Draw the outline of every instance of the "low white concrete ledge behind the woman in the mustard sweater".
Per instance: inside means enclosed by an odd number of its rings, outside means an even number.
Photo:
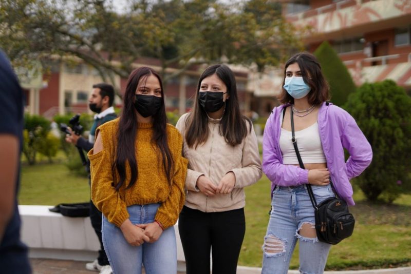
[[[93,261],[100,249],[99,240],[88,217],[70,218],[50,212],[53,206],[19,205],[22,240],[30,247],[30,258]],[[185,262],[178,233],[177,260]]]

